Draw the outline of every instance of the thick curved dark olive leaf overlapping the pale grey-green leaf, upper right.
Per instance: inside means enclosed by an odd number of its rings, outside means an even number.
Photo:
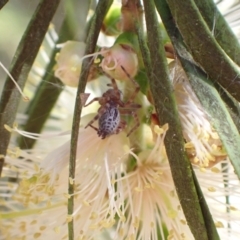
[[[194,1],[167,0],[167,3],[194,60],[201,65],[212,81],[219,82],[240,101],[239,68],[219,46]]]

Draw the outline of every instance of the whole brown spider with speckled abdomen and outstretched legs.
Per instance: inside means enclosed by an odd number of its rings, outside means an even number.
[[[126,127],[127,123],[121,119],[121,114],[132,115],[136,122],[131,130],[127,133],[127,136],[135,131],[140,125],[136,111],[137,109],[141,108],[141,105],[133,102],[140,90],[140,87],[137,82],[130,77],[130,75],[123,67],[122,69],[136,86],[135,91],[132,93],[132,96],[127,102],[124,103],[121,100],[121,91],[118,89],[116,80],[114,78],[111,78],[112,83],[107,84],[107,86],[112,88],[107,90],[102,95],[102,97],[96,97],[92,99],[87,105],[85,105],[86,107],[94,101],[99,102],[100,108],[98,109],[98,114],[86,125],[85,128],[88,126],[92,127],[97,131],[98,136],[102,137],[102,139],[111,134],[117,134]],[[98,128],[92,125],[96,120],[98,120]]]

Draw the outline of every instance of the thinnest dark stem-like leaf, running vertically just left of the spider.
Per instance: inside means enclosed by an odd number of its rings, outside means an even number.
[[[85,55],[92,54],[95,51],[98,35],[102,26],[104,16],[106,15],[111,4],[112,4],[112,0],[101,0],[98,2],[95,14],[91,20],[92,22],[91,22],[89,34],[86,41],[87,45],[86,45]],[[79,81],[77,95],[76,95],[72,135],[71,135],[71,150],[70,150],[70,159],[69,159],[69,184],[68,184],[68,194],[70,196],[70,198],[68,199],[68,215],[69,216],[72,216],[74,212],[74,184],[71,184],[70,179],[72,180],[75,179],[77,141],[78,141],[81,112],[83,107],[83,104],[81,102],[81,94],[83,94],[85,91],[91,63],[92,63],[92,58],[87,58],[83,61],[80,81]],[[73,218],[72,218],[72,221],[68,223],[68,239],[74,240]]]

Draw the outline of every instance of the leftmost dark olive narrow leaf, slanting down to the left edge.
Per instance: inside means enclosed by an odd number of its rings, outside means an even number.
[[[48,30],[50,21],[58,7],[60,0],[41,0],[39,3],[15,53],[10,73],[23,88],[27,80],[28,73],[32,67],[38,50]],[[16,90],[16,86],[8,77],[0,102],[0,154],[6,155],[7,147],[10,141],[10,133],[6,131],[4,125],[12,126],[18,103],[21,95]],[[2,171],[4,159],[0,159],[0,173]]]

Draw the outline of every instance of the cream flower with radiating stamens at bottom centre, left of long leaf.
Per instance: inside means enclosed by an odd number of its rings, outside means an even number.
[[[117,186],[123,187],[126,204],[115,239],[193,239],[175,193],[165,153],[167,128],[167,125],[155,126],[157,139],[153,149],[138,155],[132,152],[136,161],[134,170],[118,179]]]

